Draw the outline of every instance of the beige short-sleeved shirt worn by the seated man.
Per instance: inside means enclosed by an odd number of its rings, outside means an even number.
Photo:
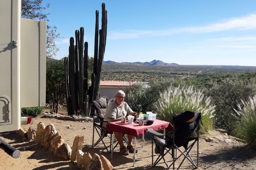
[[[133,110],[129,107],[129,105],[123,101],[121,106],[118,106],[115,101],[111,102],[107,106],[107,111],[105,114],[105,119],[108,122],[111,122],[110,118],[120,118],[122,116],[126,116],[127,114],[133,113]]]

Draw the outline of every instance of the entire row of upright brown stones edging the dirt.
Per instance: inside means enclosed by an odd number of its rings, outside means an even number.
[[[82,152],[84,136],[76,136],[72,150],[67,143],[64,143],[62,136],[57,132],[53,124],[45,126],[43,122],[37,124],[37,129],[30,127],[28,130],[19,129],[15,131],[23,138],[42,145],[47,148],[55,158],[71,160],[76,163],[79,169],[83,170],[113,170],[110,161],[103,155]]]

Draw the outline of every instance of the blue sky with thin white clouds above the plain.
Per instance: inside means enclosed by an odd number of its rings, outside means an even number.
[[[88,55],[94,51],[95,10],[103,1],[43,0],[50,3],[49,25],[57,40],[57,59],[68,54],[69,38],[85,28]],[[104,60],[162,60],[180,65],[256,66],[256,1],[105,0],[108,10]],[[101,25],[100,25],[101,27]]]

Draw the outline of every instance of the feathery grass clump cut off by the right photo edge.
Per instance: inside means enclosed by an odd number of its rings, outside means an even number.
[[[249,97],[247,101],[242,101],[242,106],[238,106],[238,111],[232,114],[237,118],[232,134],[238,138],[246,140],[249,145],[256,147],[256,96]]]

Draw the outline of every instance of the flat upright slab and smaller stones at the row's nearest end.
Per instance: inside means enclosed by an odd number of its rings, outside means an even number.
[[[72,146],[71,162],[75,162],[76,166],[82,170],[113,170],[113,166],[105,156],[82,152],[84,136],[76,136]]]

